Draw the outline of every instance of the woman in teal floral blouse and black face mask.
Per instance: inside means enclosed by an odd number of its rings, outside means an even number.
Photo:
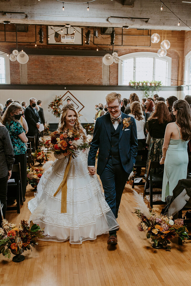
[[[21,185],[23,200],[25,201],[25,193],[27,186],[27,137],[25,129],[21,126],[19,120],[22,116],[22,108],[17,103],[10,104],[2,116],[2,124],[5,125],[9,131],[11,143],[15,154],[15,164],[21,165]]]

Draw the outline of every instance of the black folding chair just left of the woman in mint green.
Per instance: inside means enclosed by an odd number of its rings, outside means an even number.
[[[146,195],[150,196],[151,208],[153,207],[153,204],[165,204],[162,201],[158,201],[158,200],[153,201],[153,183],[158,183],[158,184],[162,185],[162,181],[163,181],[163,173],[162,174],[153,174],[151,172],[151,169],[155,169],[155,168],[164,168],[164,164],[160,165],[159,161],[151,162],[151,160],[149,160],[149,166],[148,166],[147,174],[145,174],[146,181],[145,181],[145,186],[144,186],[144,191],[143,191],[143,198]],[[149,192],[146,191],[148,186],[149,186]],[[154,192],[154,194],[162,194],[162,191]]]

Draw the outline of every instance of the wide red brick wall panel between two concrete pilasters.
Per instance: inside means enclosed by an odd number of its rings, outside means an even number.
[[[29,56],[28,84],[102,85],[101,57]]]

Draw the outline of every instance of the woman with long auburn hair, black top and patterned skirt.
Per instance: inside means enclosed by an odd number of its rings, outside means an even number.
[[[151,141],[147,158],[147,168],[149,160],[160,161],[162,157],[162,145],[167,124],[171,121],[170,112],[164,102],[155,102],[154,113],[148,119],[149,134]],[[162,168],[152,170],[154,173],[162,172]]]

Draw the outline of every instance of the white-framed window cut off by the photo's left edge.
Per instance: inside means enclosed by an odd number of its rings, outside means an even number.
[[[0,84],[10,84],[9,57],[2,51],[0,51]]]

